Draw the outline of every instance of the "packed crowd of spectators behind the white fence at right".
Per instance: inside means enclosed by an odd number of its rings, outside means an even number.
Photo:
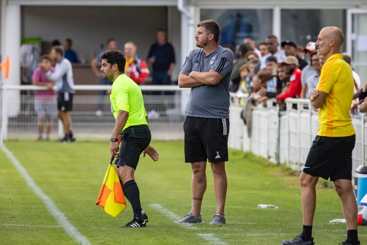
[[[280,109],[285,110],[285,99],[309,99],[310,92],[316,89],[325,60],[318,55],[315,42],[309,42],[302,48],[286,40],[280,46],[282,49],[278,48],[277,37],[271,35],[257,46],[252,38],[245,38],[242,45],[232,50],[236,60],[229,90],[239,95],[238,103],[244,108],[251,110],[255,104],[276,99]],[[229,45],[227,47],[230,48]],[[343,56],[352,66],[352,58],[346,53]],[[351,113],[359,115],[367,111],[366,86],[360,89],[360,77],[355,71],[353,78],[355,94]],[[246,102],[244,97],[247,97]],[[364,102],[366,105],[362,107]],[[357,109],[358,105],[361,105],[361,110]],[[297,108],[297,105],[293,107]]]

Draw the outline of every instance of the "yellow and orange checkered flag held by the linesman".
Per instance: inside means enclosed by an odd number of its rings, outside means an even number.
[[[112,164],[108,164],[107,173],[101,191],[99,191],[96,205],[103,207],[105,212],[116,218],[125,208],[124,192]]]

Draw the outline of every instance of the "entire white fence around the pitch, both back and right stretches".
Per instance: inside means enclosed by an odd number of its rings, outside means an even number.
[[[109,90],[111,86],[76,85],[75,90]],[[37,137],[37,114],[34,110],[34,90],[37,86],[3,86],[1,89],[1,136],[9,138]],[[187,101],[188,89],[178,86],[141,86],[145,108],[149,116],[149,125],[153,139],[183,139],[183,109]],[[8,91],[21,92],[20,102],[14,102]],[[171,91],[171,95],[150,95],[151,91]],[[233,102],[232,102],[233,101]],[[242,107],[236,103],[238,97],[231,94],[230,130],[228,145],[230,148],[251,151],[272,162],[287,163],[295,170],[301,170],[308,151],[316,137],[319,127],[317,112],[309,100],[287,99],[287,111],[268,100],[252,111],[252,136],[247,135],[247,126],[241,119]],[[109,96],[78,95],[73,99],[72,129],[77,137],[108,138],[115,125],[110,111]],[[19,103],[19,113],[8,113],[9,105]],[[103,103],[103,114],[95,112],[99,103]],[[204,102],[203,102],[204,103]],[[292,109],[297,104],[298,109]],[[304,109],[305,105],[309,109]],[[11,115],[12,114],[12,115]],[[11,116],[10,116],[11,115]],[[356,131],[356,146],[353,150],[353,173],[357,166],[365,163],[364,149],[367,124],[364,117],[352,117]],[[62,136],[61,123],[53,120],[51,136]]]

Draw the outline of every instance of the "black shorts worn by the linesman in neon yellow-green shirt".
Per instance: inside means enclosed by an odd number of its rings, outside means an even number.
[[[141,153],[148,147],[151,134],[148,126],[139,125],[126,128],[119,137],[120,152],[115,160],[117,167],[130,166],[136,170]]]

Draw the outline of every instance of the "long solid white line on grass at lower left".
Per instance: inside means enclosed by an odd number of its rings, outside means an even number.
[[[1,150],[8,156],[11,163],[14,165],[14,167],[17,169],[19,174],[22,176],[22,178],[25,180],[29,188],[32,189],[34,194],[36,194],[44,203],[44,205],[47,207],[48,212],[54,216],[54,218],[57,220],[57,222],[61,225],[62,228],[64,228],[66,234],[68,234],[70,237],[72,237],[76,242],[83,244],[83,245],[91,245],[90,241],[86,237],[84,237],[78,230],[75,228],[72,223],[68,219],[66,219],[65,215],[58,209],[56,204],[52,201],[52,199],[47,196],[41,188],[39,188],[32,177],[28,174],[27,170],[22,166],[22,164],[18,161],[17,158],[10,152],[8,148],[6,148],[5,145],[0,146]]]

